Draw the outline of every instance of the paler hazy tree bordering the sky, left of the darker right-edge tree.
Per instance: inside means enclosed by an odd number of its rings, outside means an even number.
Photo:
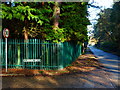
[[[101,12],[100,18],[98,19],[98,23],[94,26],[94,36],[97,38],[100,42],[103,41],[113,41],[113,37],[111,36],[111,29],[110,29],[110,15],[111,15],[112,9],[105,9],[103,12]]]

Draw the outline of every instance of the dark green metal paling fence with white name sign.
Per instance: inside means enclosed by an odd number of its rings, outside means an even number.
[[[1,41],[1,65],[5,68],[5,40]],[[73,42],[50,43],[40,39],[8,39],[8,68],[61,69],[81,55],[81,46]]]

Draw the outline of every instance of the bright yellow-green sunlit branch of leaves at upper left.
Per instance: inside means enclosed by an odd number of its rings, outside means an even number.
[[[16,7],[8,7],[3,4],[2,6],[3,18],[6,19],[20,19],[24,21],[26,18],[28,20],[39,21],[41,12],[36,8],[31,8],[30,6],[16,6]]]

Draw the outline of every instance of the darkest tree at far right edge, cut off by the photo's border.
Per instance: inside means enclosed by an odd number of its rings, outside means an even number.
[[[120,1],[113,5],[110,22],[112,23],[110,26],[112,36],[120,49]]]

